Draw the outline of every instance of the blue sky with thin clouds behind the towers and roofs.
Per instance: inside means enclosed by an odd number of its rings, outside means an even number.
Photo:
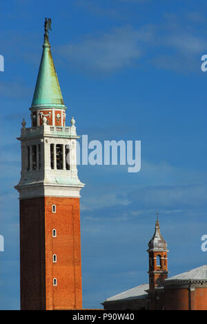
[[[90,140],[141,141],[141,171],[79,166],[83,307],[148,282],[159,210],[170,276],[207,263],[207,3],[198,0],[1,1],[0,309],[19,309],[21,120],[29,125],[43,22],[64,101]]]

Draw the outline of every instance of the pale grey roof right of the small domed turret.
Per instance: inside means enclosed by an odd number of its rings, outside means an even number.
[[[207,265],[168,278],[165,280],[165,282],[169,282],[172,280],[173,281],[174,280],[175,281],[207,280]]]

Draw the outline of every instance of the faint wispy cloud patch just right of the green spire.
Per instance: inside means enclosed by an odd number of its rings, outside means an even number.
[[[99,37],[87,37],[77,44],[61,46],[59,53],[81,70],[111,73],[134,64],[142,55],[138,42],[150,39],[150,28],[135,30],[124,26]]]

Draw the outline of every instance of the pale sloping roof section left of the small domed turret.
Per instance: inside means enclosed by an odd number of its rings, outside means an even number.
[[[126,300],[132,300],[132,299],[146,299],[146,298],[148,298],[148,294],[146,293],[146,290],[148,290],[148,289],[149,289],[148,284],[139,285],[132,289],[123,291],[121,294],[107,298],[106,300],[104,300],[103,303],[115,302],[118,300],[126,301]]]

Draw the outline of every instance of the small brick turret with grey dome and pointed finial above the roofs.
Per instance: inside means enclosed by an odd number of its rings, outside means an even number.
[[[149,253],[149,280],[150,291],[161,285],[168,278],[168,249],[167,243],[161,236],[159,219],[157,214],[157,222],[155,224],[155,234],[148,244]]]

